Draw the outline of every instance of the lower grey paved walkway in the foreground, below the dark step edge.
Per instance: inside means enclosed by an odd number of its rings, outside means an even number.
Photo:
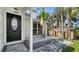
[[[65,47],[67,47],[66,44],[54,42],[34,49],[34,52],[61,52]]]

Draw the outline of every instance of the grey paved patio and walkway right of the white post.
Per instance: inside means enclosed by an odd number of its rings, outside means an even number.
[[[55,37],[47,36],[46,38],[41,38],[40,36],[33,38],[33,44],[42,41],[51,40],[49,44],[43,45],[39,48],[34,49],[34,52],[61,52],[63,48],[68,46],[68,43],[64,40],[58,40]],[[40,43],[41,45],[42,43]]]

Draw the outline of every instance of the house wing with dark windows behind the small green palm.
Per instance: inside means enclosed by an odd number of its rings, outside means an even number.
[[[37,18],[36,11],[33,11],[33,35],[42,35],[42,27],[40,25],[40,20]],[[47,22],[44,24],[45,35],[47,35]]]

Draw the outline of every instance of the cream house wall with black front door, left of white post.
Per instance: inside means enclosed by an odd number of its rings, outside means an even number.
[[[4,45],[30,39],[30,11],[25,7],[0,8],[0,51]]]

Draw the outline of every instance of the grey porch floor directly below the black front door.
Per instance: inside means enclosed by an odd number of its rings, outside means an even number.
[[[2,52],[29,52],[29,48],[26,45],[27,40],[20,43],[5,45]]]

